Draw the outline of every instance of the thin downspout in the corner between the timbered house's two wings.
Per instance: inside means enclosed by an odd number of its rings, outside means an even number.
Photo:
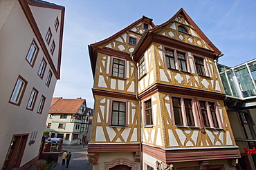
[[[142,156],[142,123],[141,123],[141,120],[142,120],[142,115],[141,115],[141,109],[140,109],[140,99],[138,98],[138,66],[136,64],[136,62],[134,61],[134,55],[133,53],[131,53],[131,60],[134,62],[134,65],[135,65],[135,85],[136,85],[136,100],[138,100],[138,110],[139,110],[139,129],[140,129],[140,169],[143,169],[143,156]]]

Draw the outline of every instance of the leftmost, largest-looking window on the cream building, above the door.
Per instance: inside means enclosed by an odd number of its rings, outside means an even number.
[[[19,76],[17,82],[15,84],[15,88],[13,89],[12,96],[10,96],[10,103],[14,103],[15,105],[20,105],[21,98],[25,92],[27,81],[24,78]]]

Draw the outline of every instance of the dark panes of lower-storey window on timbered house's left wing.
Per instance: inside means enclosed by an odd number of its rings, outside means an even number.
[[[125,126],[125,107],[125,102],[113,101],[111,125]]]

